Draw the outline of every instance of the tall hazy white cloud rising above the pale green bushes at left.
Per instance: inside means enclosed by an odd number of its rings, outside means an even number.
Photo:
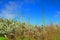
[[[16,13],[15,10],[17,9],[17,4],[15,2],[8,2],[5,4],[5,8],[2,9],[2,12],[0,14],[1,17],[3,18],[15,18]]]

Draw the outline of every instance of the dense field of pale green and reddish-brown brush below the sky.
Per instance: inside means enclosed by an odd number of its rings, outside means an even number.
[[[38,26],[0,18],[0,40],[60,40],[60,25]]]

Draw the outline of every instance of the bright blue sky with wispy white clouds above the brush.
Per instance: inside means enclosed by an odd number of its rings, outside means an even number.
[[[51,21],[60,23],[60,0],[2,0],[0,1],[0,17],[12,18],[24,22],[30,17],[30,24],[42,24],[42,2],[46,24]],[[23,18],[22,18],[23,16]]]

